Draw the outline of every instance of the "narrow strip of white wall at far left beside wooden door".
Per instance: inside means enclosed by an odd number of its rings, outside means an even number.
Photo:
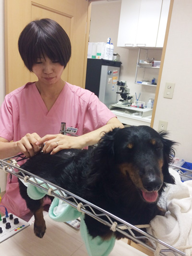
[[[5,97],[4,0],[0,0],[0,105]],[[0,170],[0,190],[5,191],[6,174]]]

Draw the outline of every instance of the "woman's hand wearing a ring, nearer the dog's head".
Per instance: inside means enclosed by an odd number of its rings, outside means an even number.
[[[48,134],[36,142],[36,145],[44,144],[43,153],[55,154],[62,149],[84,147],[81,136],[68,136],[63,134]]]

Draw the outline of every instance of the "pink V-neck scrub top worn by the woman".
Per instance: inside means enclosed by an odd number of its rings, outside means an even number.
[[[94,93],[69,83],[48,111],[35,83],[27,83],[6,95],[0,108],[0,137],[18,141],[27,133],[40,137],[59,134],[61,122],[77,128],[77,135],[82,135],[102,127],[113,117]],[[29,212],[15,176],[8,174],[6,194],[0,205],[20,218]]]

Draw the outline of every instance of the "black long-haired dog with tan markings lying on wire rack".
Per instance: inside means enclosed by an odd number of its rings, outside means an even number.
[[[168,140],[167,135],[148,126],[116,128],[105,134],[93,150],[40,153],[22,168],[133,225],[148,224],[156,215],[164,214],[156,203],[166,183],[174,184],[168,164],[176,143]],[[46,225],[42,200],[30,199],[21,181],[20,193],[35,215],[34,232],[43,237]],[[93,237],[108,239],[114,233],[88,215],[85,223]],[[115,232],[115,236],[123,237],[120,232]]]

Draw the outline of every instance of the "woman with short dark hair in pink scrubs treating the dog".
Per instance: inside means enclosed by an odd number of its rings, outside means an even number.
[[[1,159],[20,152],[30,158],[41,149],[55,154],[64,148],[84,148],[96,144],[103,132],[123,128],[93,93],[61,79],[71,57],[71,43],[58,23],[32,21],[22,31],[18,47],[25,66],[38,80],[5,97],[0,108]],[[61,122],[76,128],[78,136],[59,134]],[[1,204],[18,217],[29,212],[15,176],[8,175]]]

